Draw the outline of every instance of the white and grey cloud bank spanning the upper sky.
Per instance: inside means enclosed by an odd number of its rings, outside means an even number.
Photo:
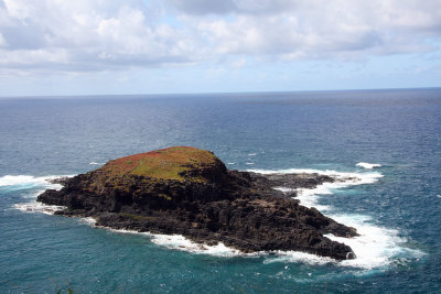
[[[435,51],[439,1],[0,0],[2,68],[117,70],[249,56],[365,59]],[[238,56],[238,57],[237,57]],[[256,59],[254,59],[256,61]]]

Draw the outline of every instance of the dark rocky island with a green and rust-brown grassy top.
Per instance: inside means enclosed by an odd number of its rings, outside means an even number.
[[[196,242],[224,242],[244,252],[298,250],[337,260],[352,249],[323,235],[357,236],[315,208],[306,208],[277,186],[313,188],[323,175],[228,171],[212,152],[169,148],[108,162],[63,181],[61,190],[37,198],[66,206],[67,216],[89,216],[98,226],[180,233]]]

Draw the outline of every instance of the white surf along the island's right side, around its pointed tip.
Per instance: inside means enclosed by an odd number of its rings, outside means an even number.
[[[340,173],[335,171],[319,171],[319,170],[282,170],[282,171],[251,171],[261,174],[273,174],[273,173],[316,173],[324,174],[336,178],[334,183],[324,183],[319,185],[313,189],[297,189],[300,204],[308,207],[315,207],[321,211],[326,211],[326,215],[332,219],[344,224],[349,227],[357,229],[359,237],[354,238],[342,238],[335,237],[333,235],[326,235],[331,240],[345,243],[349,246],[355,254],[356,259],[344,260],[340,262],[330,261],[325,258],[304,255],[299,252],[289,254],[284,257],[279,257],[273,261],[301,261],[311,264],[323,264],[323,263],[335,263],[340,266],[359,268],[364,270],[373,270],[381,266],[387,266],[392,262],[395,257],[412,257],[419,258],[424,255],[422,251],[412,250],[405,248],[400,244],[405,243],[407,240],[399,237],[397,230],[387,229],[384,227],[375,226],[372,224],[370,217],[364,215],[333,215],[332,207],[323,206],[319,204],[320,195],[333,194],[334,189],[341,189],[354,185],[373,184],[383,177],[379,173]],[[293,189],[278,187],[277,189],[284,193],[293,192]],[[268,261],[271,262],[271,261]]]

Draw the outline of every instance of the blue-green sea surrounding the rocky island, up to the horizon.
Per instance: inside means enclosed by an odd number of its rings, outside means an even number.
[[[171,145],[358,178],[302,195],[358,229],[358,259],[201,251],[35,205],[47,177]],[[0,293],[434,293],[440,225],[439,88],[0,99]]]

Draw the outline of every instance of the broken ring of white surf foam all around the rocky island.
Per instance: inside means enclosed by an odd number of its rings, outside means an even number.
[[[207,246],[191,241],[181,235],[158,235],[150,232],[138,232],[130,230],[116,230],[109,229],[119,233],[137,233],[143,235],[151,239],[155,244],[174,249],[183,250],[193,253],[212,254],[218,257],[268,257],[265,259],[265,263],[271,262],[302,262],[306,264],[327,264],[332,263],[337,266],[358,268],[363,270],[372,270],[376,268],[387,266],[392,262],[394,257],[399,255],[411,255],[421,257],[424,253],[418,250],[411,250],[402,247],[406,239],[400,238],[397,230],[378,227],[372,224],[372,219],[363,215],[332,215],[332,207],[320,205],[320,195],[331,195],[333,190],[345,188],[353,185],[373,184],[378,181],[383,175],[377,172],[368,173],[342,173],[336,171],[320,171],[320,170],[280,170],[280,171],[268,171],[268,170],[251,170],[251,172],[261,174],[273,174],[273,173],[316,173],[322,175],[329,175],[336,178],[334,183],[324,183],[319,185],[314,189],[300,188],[297,189],[297,199],[308,207],[315,207],[319,210],[324,210],[327,215],[341,224],[351,226],[357,229],[361,235],[355,238],[341,238],[333,235],[326,237],[343,242],[349,246],[355,254],[357,255],[354,260],[335,261],[331,258],[323,258],[315,254],[298,252],[298,251],[271,251],[271,252],[256,252],[256,253],[243,253],[239,250],[228,248],[224,243],[219,242],[216,246]],[[46,176],[46,177],[33,177],[33,176],[3,176],[0,177],[0,186],[17,186],[26,187],[26,185],[34,185],[41,188],[53,188],[53,186],[60,186],[57,184],[51,184],[49,179],[53,179],[60,176]],[[293,192],[293,189],[287,187],[278,187],[277,189],[284,193]],[[36,196],[36,195],[35,195]],[[31,203],[17,204],[14,208],[26,213],[43,213],[54,214],[56,210],[64,209],[62,206],[49,206],[36,203],[34,199]],[[80,218],[83,222],[94,226],[94,218]]]

